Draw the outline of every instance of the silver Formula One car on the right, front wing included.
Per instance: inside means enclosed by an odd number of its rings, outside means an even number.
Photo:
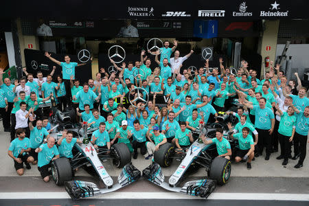
[[[163,144],[154,154],[155,162],[143,170],[142,176],[148,179],[148,181],[163,187],[165,190],[207,198],[214,191],[216,185],[225,185],[229,181],[231,161],[218,157],[216,144],[203,144],[201,135],[211,139],[216,137],[216,128],[223,128],[224,137],[229,139],[229,130],[225,123],[231,122],[230,118],[233,117],[227,115],[227,113],[220,113],[216,123],[207,126],[204,126],[203,123],[200,124],[196,131],[193,132],[193,137],[196,140],[187,148],[186,152],[177,152],[174,145],[170,143]],[[221,120],[222,122],[219,122]],[[235,122],[235,119],[232,120]],[[229,141],[231,147],[235,147],[235,143],[231,140]],[[168,183],[165,183],[161,167],[170,166],[173,159],[181,161],[181,163],[174,174],[170,176]],[[185,172],[188,170],[194,172],[201,167],[205,168],[207,178],[189,181],[183,187],[178,187],[185,177]]]

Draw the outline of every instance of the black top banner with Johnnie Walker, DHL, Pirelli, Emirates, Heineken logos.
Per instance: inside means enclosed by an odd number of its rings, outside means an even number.
[[[35,5],[35,6],[34,6]],[[32,3],[16,3],[16,1],[3,1],[1,17],[12,18],[18,14],[21,17],[38,16],[55,18],[65,14],[76,19],[84,16],[90,19],[308,19],[309,1],[307,0],[220,0],[220,1],[38,1]],[[47,9],[48,8],[48,9]],[[68,9],[69,8],[69,9]],[[14,10],[14,12],[11,12]],[[2,19],[3,19],[2,18]],[[82,22],[82,21],[77,21]],[[84,24],[55,26],[82,27]],[[91,25],[91,22],[90,24]]]

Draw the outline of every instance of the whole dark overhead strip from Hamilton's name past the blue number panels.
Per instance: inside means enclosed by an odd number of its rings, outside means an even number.
[[[244,4],[243,4],[244,5]],[[246,5],[247,6],[247,5]],[[244,10],[243,10],[244,11]],[[22,30],[23,35],[38,36],[85,36],[88,38],[101,37],[144,37],[153,38],[214,38],[233,36],[258,36],[262,31],[262,23],[257,21],[244,21],[244,16],[238,16],[242,21],[226,21],[225,19],[199,19],[199,20],[102,20],[102,21],[73,21],[73,20],[23,20],[23,25],[33,25],[29,30]],[[52,22],[52,24],[51,24]],[[55,24],[56,23],[56,24]],[[40,28],[38,28],[40,27]],[[111,28],[106,30],[106,28]]]

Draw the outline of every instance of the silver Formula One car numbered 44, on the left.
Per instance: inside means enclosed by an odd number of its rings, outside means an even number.
[[[71,160],[61,157],[52,161],[52,176],[56,185],[65,184],[65,190],[74,200],[113,192],[137,181],[141,176],[141,172],[130,163],[131,154],[126,144],[114,144],[111,146],[111,150],[95,149],[89,141],[89,137],[95,129],[88,130],[87,124],[84,124],[82,128],[67,129],[72,131],[82,144],[75,144]],[[51,135],[57,140],[61,134],[52,133]],[[117,168],[123,168],[118,176],[118,183],[115,185],[113,185],[113,179],[111,179],[104,165],[102,165],[101,160],[104,159],[113,159],[113,164]],[[91,172],[91,174],[93,174],[94,170],[94,173],[99,176],[106,187],[100,189],[95,183],[72,181],[74,170],[81,167]]]

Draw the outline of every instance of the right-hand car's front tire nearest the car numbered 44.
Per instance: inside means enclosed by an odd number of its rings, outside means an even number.
[[[174,152],[174,146],[168,142],[161,145],[158,151],[155,151],[154,161],[161,167],[166,168],[172,163],[172,154]]]

